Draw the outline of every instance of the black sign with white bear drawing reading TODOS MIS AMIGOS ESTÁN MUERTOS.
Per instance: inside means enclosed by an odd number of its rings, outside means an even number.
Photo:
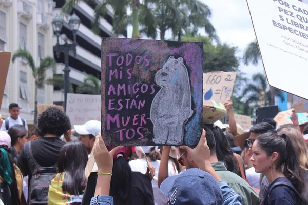
[[[202,74],[202,42],[103,37],[106,146],[198,144]]]

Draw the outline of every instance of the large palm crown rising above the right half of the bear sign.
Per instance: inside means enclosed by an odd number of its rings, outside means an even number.
[[[217,38],[214,26],[209,22],[211,10],[199,0],[152,0],[145,2],[140,13],[142,33],[148,37],[156,38],[157,30],[160,39],[165,39],[168,29],[172,30],[178,40],[191,30],[205,28],[209,37]],[[148,23],[152,22],[151,27]],[[184,31],[184,32],[183,32]]]

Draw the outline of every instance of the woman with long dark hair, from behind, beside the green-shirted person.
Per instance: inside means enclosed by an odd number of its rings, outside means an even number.
[[[233,172],[240,177],[244,178],[245,176],[241,175],[239,166],[243,166],[243,161],[241,160],[241,165],[239,165],[237,158],[232,150],[232,148],[228,144],[228,140],[225,137],[223,131],[216,125],[209,124],[206,125],[214,134],[215,142],[216,142],[216,155],[218,161],[222,161],[227,170]],[[245,169],[244,169],[245,170]]]

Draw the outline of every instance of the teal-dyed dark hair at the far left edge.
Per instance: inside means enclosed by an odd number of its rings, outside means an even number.
[[[0,148],[0,176],[8,185],[13,182],[9,154],[3,148]]]

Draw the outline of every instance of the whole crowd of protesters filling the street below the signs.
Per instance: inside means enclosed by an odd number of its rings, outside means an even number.
[[[0,205],[307,204],[308,125],[293,112],[292,124],[264,119],[239,134],[225,107],[228,127],[203,124],[197,146],[106,147],[100,121],[72,126],[50,107],[28,131],[11,104],[0,120]]]

